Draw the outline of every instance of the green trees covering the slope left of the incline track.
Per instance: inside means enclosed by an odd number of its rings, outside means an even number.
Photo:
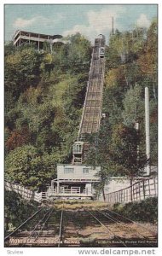
[[[90,66],[80,34],[51,49],[5,46],[5,176],[44,189],[72,158]]]

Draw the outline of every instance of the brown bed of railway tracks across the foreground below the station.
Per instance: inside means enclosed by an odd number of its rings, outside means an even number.
[[[6,247],[157,247],[142,224],[108,209],[43,207],[5,237]]]

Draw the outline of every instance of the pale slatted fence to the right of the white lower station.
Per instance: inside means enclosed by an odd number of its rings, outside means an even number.
[[[158,195],[158,178],[152,177],[142,179],[125,189],[108,193],[105,195],[106,201],[109,203],[125,203],[130,201],[141,201],[148,197]]]

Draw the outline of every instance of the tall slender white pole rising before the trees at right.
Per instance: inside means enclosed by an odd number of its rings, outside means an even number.
[[[146,155],[148,159],[147,174],[150,176],[150,132],[149,132],[149,91],[145,87],[145,131],[146,131]]]

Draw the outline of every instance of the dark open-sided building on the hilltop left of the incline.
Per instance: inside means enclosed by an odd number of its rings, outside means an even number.
[[[62,40],[61,35],[46,35],[35,32],[26,32],[22,30],[18,30],[14,33],[13,42],[15,46],[20,46],[21,44],[36,44],[39,49],[43,49],[43,43],[47,42],[50,45],[52,44],[66,44],[64,40]]]

